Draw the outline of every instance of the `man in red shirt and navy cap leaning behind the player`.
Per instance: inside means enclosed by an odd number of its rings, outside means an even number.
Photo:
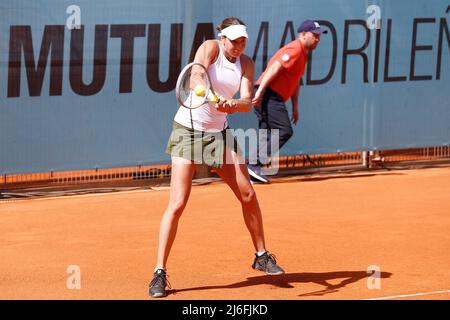
[[[297,29],[298,37],[279,49],[270,59],[266,70],[256,81],[256,93],[252,100],[255,113],[259,120],[259,129],[266,129],[267,142],[258,145],[258,154],[250,157],[248,172],[253,181],[267,183],[266,176],[261,174],[261,165],[270,161],[271,141],[274,135],[271,130],[279,130],[278,148],[281,148],[292,136],[294,125],[298,122],[298,95],[300,79],[305,72],[309,53],[320,42],[320,35],[327,33],[320,25],[312,20],[305,20]],[[292,101],[292,116],[286,109],[286,101]],[[267,150],[264,150],[267,148]],[[267,155],[268,159],[262,159]],[[255,159],[256,158],[256,159]],[[256,164],[251,162],[256,160]]]

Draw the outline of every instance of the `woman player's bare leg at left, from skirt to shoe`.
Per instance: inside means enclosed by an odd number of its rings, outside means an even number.
[[[178,221],[183,213],[192,187],[195,164],[179,157],[172,157],[169,204],[161,218],[156,267],[164,269],[175,240]]]

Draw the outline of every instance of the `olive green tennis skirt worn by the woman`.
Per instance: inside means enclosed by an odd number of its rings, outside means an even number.
[[[196,164],[220,168],[224,163],[224,152],[227,146],[238,153],[241,152],[235,137],[227,129],[219,132],[203,132],[174,121],[166,153]]]

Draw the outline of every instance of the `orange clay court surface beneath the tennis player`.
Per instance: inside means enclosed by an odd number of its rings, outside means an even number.
[[[449,167],[254,187],[268,249],[287,273],[251,269],[254,249],[225,184],[194,186],[166,299],[450,299]],[[147,188],[0,202],[0,299],[150,299],[168,195]],[[67,288],[71,265],[81,271],[78,290]]]

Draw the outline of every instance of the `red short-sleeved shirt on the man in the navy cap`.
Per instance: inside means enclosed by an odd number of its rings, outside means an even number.
[[[261,83],[262,77],[267,72],[267,69],[275,61],[279,61],[283,68],[272,82],[270,82],[269,87],[278,93],[284,101],[287,101],[300,85],[300,78],[305,73],[305,66],[308,62],[308,53],[303,48],[299,39],[288,43],[279,49],[270,59],[266,70],[259,77],[258,81],[256,81],[256,84]]]

